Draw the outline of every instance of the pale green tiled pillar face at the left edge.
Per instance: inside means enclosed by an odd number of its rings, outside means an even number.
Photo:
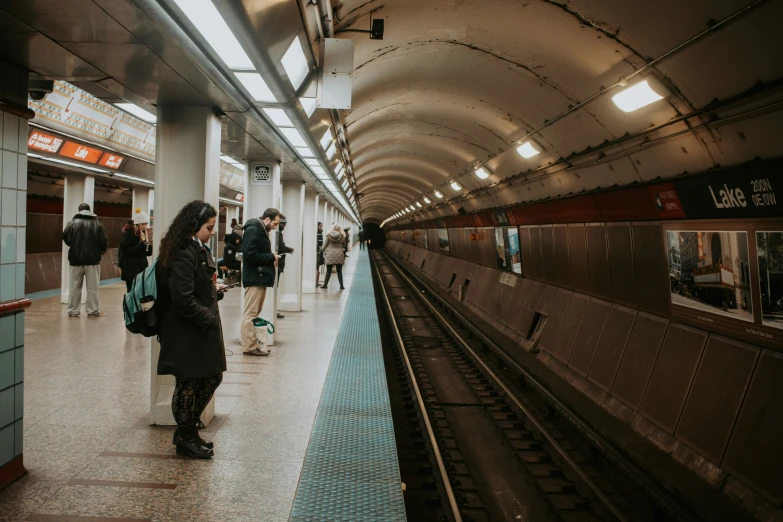
[[[0,99],[27,105],[27,71],[0,62]],[[0,302],[24,297],[27,120],[0,111]],[[0,316],[0,466],[22,453],[24,313]]]

